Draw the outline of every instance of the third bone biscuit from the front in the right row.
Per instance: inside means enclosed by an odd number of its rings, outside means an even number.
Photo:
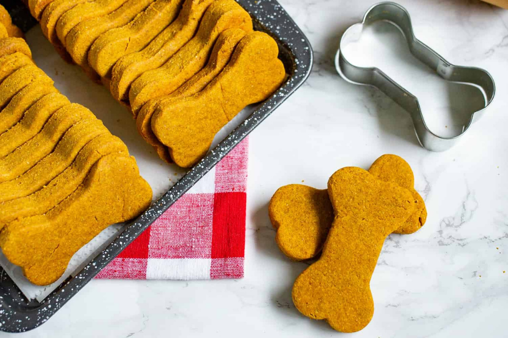
[[[249,14],[234,0],[219,0],[207,9],[196,36],[164,65],[143,73],[133,82],[129,102],[134,116],[150,99],[171,94],[199,72],[208,60],[218,35],[228,28],[252,30]]]

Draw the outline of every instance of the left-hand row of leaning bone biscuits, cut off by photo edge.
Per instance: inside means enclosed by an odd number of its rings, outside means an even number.
[[[152,191],[123,142],[35,65],[1,6],[0,22],[0,247],[47,285],[100,231],[141,214]]]

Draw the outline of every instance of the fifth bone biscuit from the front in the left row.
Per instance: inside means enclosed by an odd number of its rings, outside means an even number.
[[[51,93],[41,98],[16,125],[0,134],[0,158],[33,138],[55,111],[69,104],[67,97],[60,93]]]

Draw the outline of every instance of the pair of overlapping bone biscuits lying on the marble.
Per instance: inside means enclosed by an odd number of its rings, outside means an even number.
[[[293,260],[319,258],[295,281],[293,302],[312,319],[355,332],[372,319],[370,279],[390,233],[409,234],[427,218],[405,160],[383,155],[370,167],[335,172],[328,189],[279,188],[269,204],[280,250]]]

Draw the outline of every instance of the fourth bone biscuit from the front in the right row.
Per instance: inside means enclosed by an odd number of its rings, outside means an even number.
[[[131,84],[144,72],[163,65],[187,43],[205,10],[214,0],[185,0],[178,17],[143,50],[122,56],[111,71],[110,91],[119,102],[128,101]]]

